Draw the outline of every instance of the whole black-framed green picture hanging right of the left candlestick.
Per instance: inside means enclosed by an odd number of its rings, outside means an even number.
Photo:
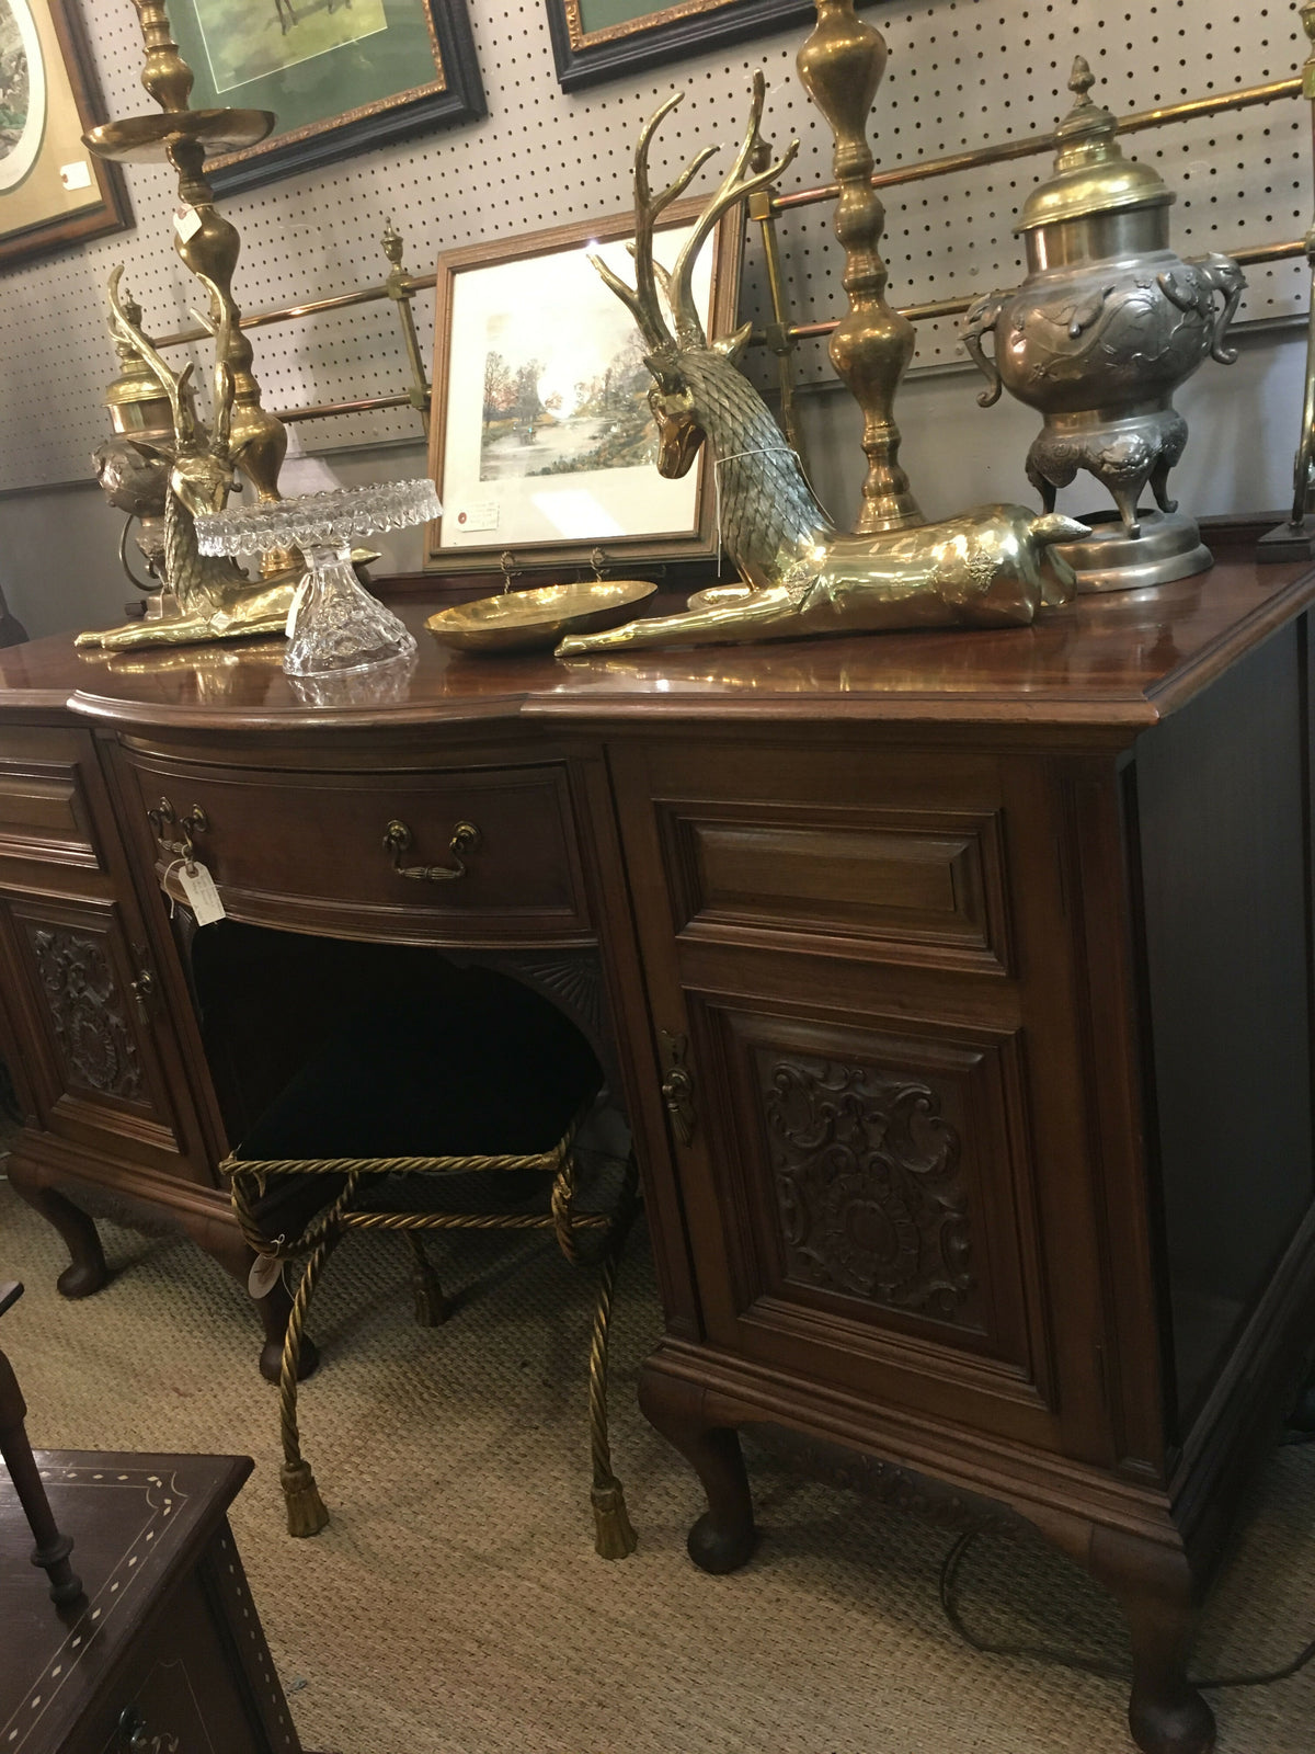
[[[174,0],[193,109],[268,109],[274,133],[207,161],[219,195],[486,114],[466,0]]]

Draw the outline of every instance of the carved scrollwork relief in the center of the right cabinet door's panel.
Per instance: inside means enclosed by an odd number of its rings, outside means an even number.
[[[787,1279],[980,1328],[961,1140],[906,1073],[754,1054]]]

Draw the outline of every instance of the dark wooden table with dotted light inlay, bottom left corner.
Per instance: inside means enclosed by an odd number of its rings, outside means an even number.
[[[56,1610],[0,1473],[5,1754],[302,1754],[228,1528],[233,1456],[37,1451],[82,1601]]]

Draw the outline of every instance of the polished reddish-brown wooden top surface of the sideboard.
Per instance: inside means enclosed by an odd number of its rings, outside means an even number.
[[[1213,572],[1155,591],[1087,596],[1031,628],[887,633],[701,651],[480,658],[423,631],[433,600],[403,598],[421,656],[396,698],[368,679],[307,705],[282,642],[160,654],[77,652],[63,637],[0,651],[0,716],[67,707],[124,726],[293,730],[517,717],[636,723],[800,721],[1047,726],[1126,740],[1191,698],[1315,595],[1308,567],[1257,567],[1220,547]],[[663,605],[666,607],[666,605]]]

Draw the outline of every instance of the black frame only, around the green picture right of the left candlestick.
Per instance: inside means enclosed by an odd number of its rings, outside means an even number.
[[[387,4],[394,5],[398,0]],[[414,4],[428,12],[442,58],[442,86],[426,84],[414,95],[400,93],[370,105],[349,107],[338,118],[326,118],[296,133],[275,132],[259,146],[207,160],[205,175],[216,195],[238,195],[279,177],[319,170],[356,153],[389,146],[393,140],[487,116],[466,0],[414,0]],[[177,11],[175,33],[184,16],[182,7]],[[231,98],[224,95],[217,102]],[[203,107],[195,91],[193,107]],[[277,112],[277,100],[256,107]]]

